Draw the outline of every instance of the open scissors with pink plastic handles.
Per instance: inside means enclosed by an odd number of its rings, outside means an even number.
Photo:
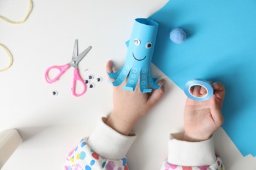
[[[60,78],[61,75],[63,75],[63,73],[65,73],[65,71],[71,67],[74,67],[74,79],[73,79],[73,87],[72,87],[72,93],[75,97],[79,97],[81,95],[83,95],[86,90],[87,90],[87,86],[85,84],[85,82],[83,81],[83,79],[81,78],[81,76],[79,75],[79,71],[78,71],[78,63],[81,61],[81,59],[83,59],[85,57],[85,55],[91,50],[91,46],[89,46],[88,48],[86,48],[83,52],[81,52],[81,54],[78,55],[78,40],[75,40],[75,45],[74,45],[74,50],[73,50],[73,56],[72,56],[72,60],[70,61],[70,63],[67,63],[66,65],[61,65],[61,66],[52,66],[49,67],[46,71],[45,71],[45,80],[48,83],[53,83],[56,82],[56,80],[58,80],[58,78]],[[58,73],[58,75],[56,75],[53,79],[49,78],[49,72],[53,69],[57,69],[58,71],[60,71]],[[77,81],[81,82],[83,84],[83,92],[81,93],[75,93],[75,86]]]

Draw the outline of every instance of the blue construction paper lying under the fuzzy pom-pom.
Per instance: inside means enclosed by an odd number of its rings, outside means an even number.
[[[193,78],[223,82],[223,128],[256,156],[256,1],[171,0],[149,18],[159,24],[152,62],[181,89]],[[169,39],[177,27],[182,44]]]

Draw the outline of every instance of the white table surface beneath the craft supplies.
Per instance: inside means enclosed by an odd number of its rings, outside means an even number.
[[[117,68],[121,67],[135,18],[147,18],[166,2],[33,0],[32,14],[24,24],[0,20],[0,43],[14,58],[12,67],[0,73],[0,131],[15,128],[24,139],[3,170],[63,169],[65,154],[112,110],[106,61],[112,59]],[[0,1],[0,15],[12,20],[21,20],[26,9],[28,0]],[[54,84],[47,84],[44,78],[47,67],[70,61],[75,39],[79,39],[80,52],[93,47],[79,63],[81,76],[103,78],[102,82],[94,81],[95,88],[81,97],[74,97],[70,90],[72,69]],[[4,56],[0,49],[0,66],[7,62]],[[154,75],[167,80],[166,93],[133,129],[137,140],[127,154],[133,170],[160,169],[167,157],[169,133],[181,131],[183,126],[186,96],[152,67]],[[57,96],[51,95],[54,90]],[[222,128],[215,133],[215,145],[226,169],[255,168],[255,158],[243,157]]]

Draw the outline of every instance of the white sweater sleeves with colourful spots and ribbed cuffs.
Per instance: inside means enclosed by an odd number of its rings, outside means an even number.
[[[66,170],[128,170],[127,154],[136,135],[122,135],[107,126],[106,118],[94,129],[90,137],[80,141],[66,156]],[[213,137],[206,141],[181,141],[182,133],[170,135],[168,158],[160,165],[161,170],[171,169],[224,169],[221,158],[215,156]]]

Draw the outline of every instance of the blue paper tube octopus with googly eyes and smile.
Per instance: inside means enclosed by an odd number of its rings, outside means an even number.
[[[110,78],[116,79],[112,84],[119,86],[127,79],[124,90],[134,91],[139,80],[140,91],[142,93],[152,92],[150,85],[158,89],[161,85],[157,84],[158,80],[152,78],[151,61],[154,52],[156,35],[158,32],[158,23],[146,18],[135,19],[131,39],[126,42],[128,46],[125,64],[119,71],[108,73]]]

